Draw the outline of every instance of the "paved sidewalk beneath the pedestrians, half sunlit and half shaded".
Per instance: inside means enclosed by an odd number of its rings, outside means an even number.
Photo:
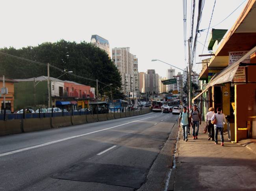
[[[190,128],[187,142],[180,128],[174,190],[256,190],[256,154],[244,145],[232,144],[227,133],[224,147],[215,145],[208,141],[208,133],[202,133],[205,125],[202,122],[197,140],[192,139]]]

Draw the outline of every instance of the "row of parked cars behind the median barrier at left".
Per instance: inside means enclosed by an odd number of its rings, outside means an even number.
[[[52,107],[52,108],[40,108],[40,109],[37,109],[37,110],[33,110],[33,109],[25,109],[26,113],[52,113],[52,112],[62,112],[62,110],[58,107]],[[76,111],[80,111],[80,110],[76,110],[74,109],[73,112],[76,112]],[[89,109],[87,108],[82,108],[81,111],[90,111]],[[24,109],[20,109],[18,111],[15,111],[14,113],[23,113],[24,112]],[[67,109],[63,109],[63,112],[69,112],[67,111]],[[0,110],[0,114],[4,114],[4,110]],[[6,109],[6,114],[11,114],[11,111]]]

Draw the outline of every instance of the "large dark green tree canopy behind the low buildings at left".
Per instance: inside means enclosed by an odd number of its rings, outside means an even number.
[[[26,58],[29,60],[49,63],[66,71],[73,71],[73,74],[98,79],[104,84],[113,84],[113,95],[121,94],[121,75],[108,57],[108,54],[98,47],[86,42],[68,42],[60,40],[58,42],[45,42],[38,46],[28,46],[21,49],[13,47],[2,48],[1,52]],[[63,73],[56,69],[50,68],[50,76],[58,78]],[[5,75],[7,78],[32,78],[37,76],[47,76],[47,67],[45,65],[34,64],[24,60],[11,58],[0,55],[0,76]],[[96,87],[96,82],[85,80],[72,75],[63,75],[59,79],[70,80],[80,84],[91,85]],[[110,86],[98,83],[100,93],[110,91]],[[105,87],[104,89],[102,89]]]

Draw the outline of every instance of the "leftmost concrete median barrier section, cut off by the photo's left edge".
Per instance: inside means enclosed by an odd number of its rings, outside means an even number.
[[[16,133],[22,133],[20,119],[0,121],[0,136]]]

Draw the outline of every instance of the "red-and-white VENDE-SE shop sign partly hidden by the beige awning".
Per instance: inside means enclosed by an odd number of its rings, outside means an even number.
[[[243,55],[245,55],[248,51],[237,51],[237,52],[229,52],[229,65],[233,64]],[[250,56],[243,60],[243,63],[250,63]],[[236,74],[233,78],[234,82],[246,82],[246,75],[245,75],[245,67],[238,67]]]

